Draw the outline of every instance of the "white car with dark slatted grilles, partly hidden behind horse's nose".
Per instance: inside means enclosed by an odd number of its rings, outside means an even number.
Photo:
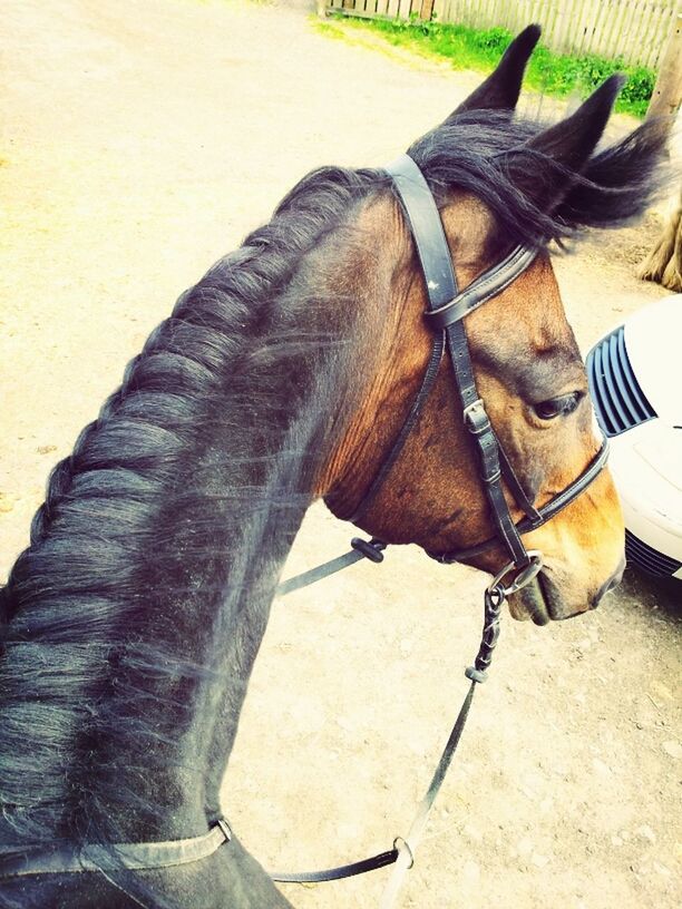
[[[586,360],[625,516],[627,563],[682,579],[682,294],[630,316]]]

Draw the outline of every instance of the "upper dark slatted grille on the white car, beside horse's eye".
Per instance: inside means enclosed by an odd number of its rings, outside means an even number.
[[[656,412],[630,365],[622,325],[594,345],[585,366],[594,409],[605,436],[620,436],[654,419]]]

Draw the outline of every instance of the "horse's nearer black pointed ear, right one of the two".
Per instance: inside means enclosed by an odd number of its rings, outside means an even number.
[[[552,212],[571,192],[572,175],[584,170],[602,138],[624,76],[611,76],[571,117],[538,133],[520,149],[510,154],[508,173],[514,185],[543,212]],[[530,155],[528,155],[530,152]],[[556,167],[543,166],[536,154]]]

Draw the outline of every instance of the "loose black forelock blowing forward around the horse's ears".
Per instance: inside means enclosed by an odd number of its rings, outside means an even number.
[[[470,110],[427,133],[408,149],[440,203],[454,187],[481,199],[509,243],[544,246],[587,227],[616,227],[640,216],[659,190],[656,168],[665,130],[656,121],[594,155],[581,173],[527,143],[547,124],[512,118],[506,110]],[[551,212],[523,192],[519,176],[537,185],[566,178],[571,189]]]

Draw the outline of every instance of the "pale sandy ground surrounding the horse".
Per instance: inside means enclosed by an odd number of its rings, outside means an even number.
[[[390,159],[478,81],[323,38],[293,7],[4,0],[0,571],[178,292],[311,167]],[[557,262],[584,345],[661,295],[632,277],[653,224]],[[312,509],[288,574],[349,531]],[[465,693],[483,581],[409,547],[275,604],[225,784],[266,867],[406,832]],[[402,906],[680,905],[673,598],[627,576],[574,622],[505,622]],[[286,892],[363,909],[384,877]]]

